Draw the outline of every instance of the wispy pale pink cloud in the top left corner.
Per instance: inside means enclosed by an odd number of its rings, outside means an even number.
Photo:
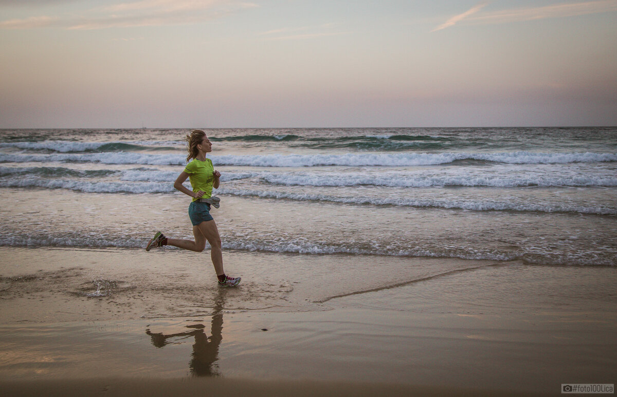
[[[140,0],[97,7],[80,17],[44,16],[0,21],[0,28],[62,27],[70,30],[92,30],[186,25],[220,18],[252,7],[257,5],[230,0]]]

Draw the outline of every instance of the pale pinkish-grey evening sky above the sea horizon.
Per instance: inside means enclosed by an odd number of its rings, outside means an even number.
[[[0,0],[0,128],[617,125],[617,0]]]

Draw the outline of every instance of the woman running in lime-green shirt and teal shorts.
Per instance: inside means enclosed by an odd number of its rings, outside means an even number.
[[[205,157],[206,153],[212,152],[212,142],[205,136],[204,131],[195,129],[191,134],[186,135],[189,155],[186,157],[186,168],[180,173],[173,187],[184,194],[193,197],[189,205],[189,218],[193,223],[193,235],[195,240],[168,239],[162,232],[152,237],[146,247],[146,251],[154,247],[163,245],[173,245],[174,247],[202,252],[205,248],[206,240],[212,247],[210,257],[214,270],[217,272],[218,285],[221,287],[236,287],[240,284],[240,277],[229,277],[223,271],[223,252],[221,250],[221,237],[218,235],[217,224],[210,215],[210,203],[205,202],[212,196],[212,187],[218,188],[221,174],[214,170],[212,160]],[[191,161],[193,160],[193,161]],[[193,190],[183,186],[183,182],[189,178]]]

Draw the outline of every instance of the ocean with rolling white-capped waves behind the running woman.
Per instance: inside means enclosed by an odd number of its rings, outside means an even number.
[[[617,264],[617,128],[205,131],[226,250]],[[0,131],[0,245],[190,238],[187,132]]]

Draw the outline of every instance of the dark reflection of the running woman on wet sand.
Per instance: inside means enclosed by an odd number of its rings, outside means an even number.
[[[215,362],[218,360],[218,348],[223,340],[223,307],[225,299],[223,298],[224,291],[221,291],[215,298],[214,313],[212,314],[212,322],[210,334],[204,332],[203,324],[186,325],[186,328],[191,328],[189,331],[178,332],[177,334],[162,334],[153,333],[150,329],[146,329],[146,334],[150,335],[152,345],[157,348],[162,348],[171,341],[172,338],[195,337],[193,345],[193,353],[191,361],[189,361],[189,369],[193,376],[219,376],[218,366]]]

